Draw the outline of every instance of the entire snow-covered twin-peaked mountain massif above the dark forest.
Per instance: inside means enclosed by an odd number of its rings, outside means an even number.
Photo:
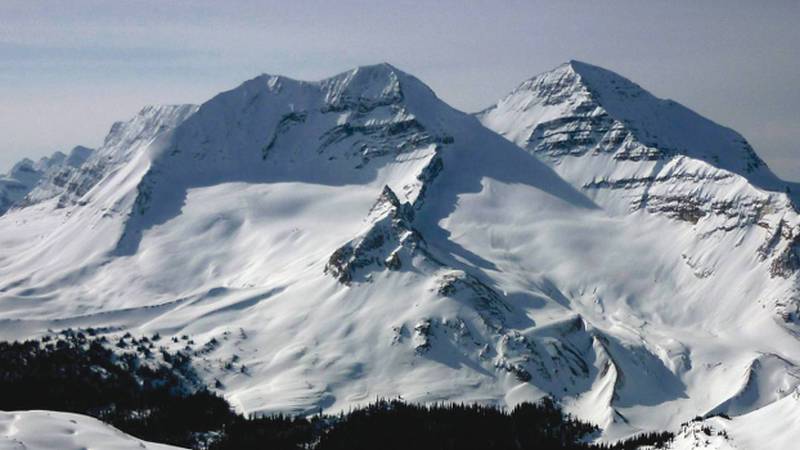
[[[242,412],[551,395],[733,436],[792,398],[798,216],[739,135],[581,63],[479,119],[386,64],[146,108],[0,216],[0,338],[215,339]]]

